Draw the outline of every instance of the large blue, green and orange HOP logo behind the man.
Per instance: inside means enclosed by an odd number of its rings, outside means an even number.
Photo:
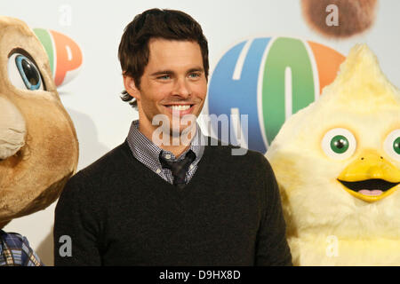
[[[212,73],[209,114],[247,114],[248,147],[265,153],[284,121],[332,83],[344,59],[329,47],[295,38],[238,43]],[[218,127],[213,124],[212,131],[221,139]],[[238,144],[235,135],[229,137],[225,142]]]

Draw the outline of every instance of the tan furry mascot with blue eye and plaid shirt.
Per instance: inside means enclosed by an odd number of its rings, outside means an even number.
[[[25,23],[0,17],[0,229],[55,201],[77,159],[44,47]],[[0,265],[39,264],[26,238],[0,230]]]

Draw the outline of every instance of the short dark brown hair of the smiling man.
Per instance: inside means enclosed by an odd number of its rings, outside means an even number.
[[[151,38],[192,41],[200,45],[205,78],[208,79],[208,44],[200,25],[185,12],[176,10],[151,9],[137,15],[124,29],[118,48],[118,58],[124,75],[129,75],[138,89],[140,77],[148,65],[148,41]],[[121,99],[136,107],[127,91]]]

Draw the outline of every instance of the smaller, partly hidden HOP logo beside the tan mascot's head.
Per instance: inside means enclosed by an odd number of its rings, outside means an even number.
[[[56,86],[60,87],[74,79],[83,61],[79,46],[68,36],[50,29],[34,28],[34,32],[49,56]]]

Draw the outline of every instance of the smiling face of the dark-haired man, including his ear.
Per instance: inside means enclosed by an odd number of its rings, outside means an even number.
[[[120,57],[124,58],[122,47],[120,51]],[[188,40],[152,38],[148,41],[148,51],[151,56],[143,75],[135,80],[127,67],[124,86],[128,95],[137,101],[140,132],[153,142],[159,133],[163,143],[156,144],[179,156],[188,144],[174,143],[173,138],[180,138],[183,131],[189,137],[196,133],[194,122],[207,92],[208,66],[203,64],[206,59],[203,59],[200,45]],[[184,123],[183,117],[190,123]],[[160,132],[156,131],[159,126],[154,123],[155,118],[163,122]]]

